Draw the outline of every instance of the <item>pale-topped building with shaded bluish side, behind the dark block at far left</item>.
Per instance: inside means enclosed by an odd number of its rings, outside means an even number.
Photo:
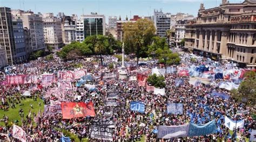
[[[27,28],[30,32],[30,53],[37,50],[45,50],[43,18],[39,14],[32,11],[12,10],[12,16],[16,19],[22,19],[23,28]]]

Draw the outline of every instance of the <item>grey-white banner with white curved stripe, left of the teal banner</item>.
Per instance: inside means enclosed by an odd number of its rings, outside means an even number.
[[[170,139],[187,137],[189,124],[178,126],[158,126],[157,138]]]

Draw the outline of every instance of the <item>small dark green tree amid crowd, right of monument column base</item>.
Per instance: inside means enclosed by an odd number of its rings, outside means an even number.
[[[156,73],[154,73],[153,75],[150,75],[147,78],[147,83],[149,83],[149,85],[151,86],[154,86],[160,89],[165,87],[164,76],[157,76]]]

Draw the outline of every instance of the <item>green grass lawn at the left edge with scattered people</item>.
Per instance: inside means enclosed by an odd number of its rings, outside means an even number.
[[[26,99],[23,99],[21,102],[24,105],[19,106],[19,104],[15,104],[15,107],[16,107],[15,109],[12,109],[11,107],[9,107],[9,111],[0,110],[0,119],[2,119],[3,115],[5,114],[5,116],[9,117],[9,121],[8,121],[9,123],[13,120],[18,120],[19,121],[18,125],[21,125],[21,116],[19,116],[20,108],[22,108],[24,111],[24,118],[26,117],[26,115],[29,114],[29,110],[31,110],[31,116],[33,112],[37,114],[39,109],[41,110],[41,113],[44,112],[44,103],[42,99],[37,99],[37,101],[33,101],[32,98],[26,98]],[[39,102],[41,102],[41,106],[39,106]],[[31,109],[30,103],[33,104],[33,109]],[[0,121],[0,126],[4,126],[3,121]]]

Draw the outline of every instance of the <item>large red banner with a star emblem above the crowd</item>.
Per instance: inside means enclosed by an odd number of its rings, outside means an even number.
[[[63,119],[86,116],[95,117],[95,111],[92,102],[87,104],[83,102],[62,102],[62,116]]]

